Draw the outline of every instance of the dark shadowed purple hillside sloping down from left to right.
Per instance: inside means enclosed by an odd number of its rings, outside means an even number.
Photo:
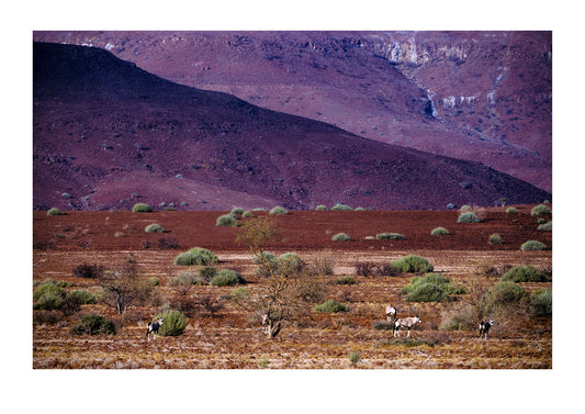
[[[479,163],[173,83],[94,47],[35,43],[33,104],[37,210],[426,210],[551,198]]]

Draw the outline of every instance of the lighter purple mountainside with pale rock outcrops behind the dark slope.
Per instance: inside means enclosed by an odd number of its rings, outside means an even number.
[[[551,32],[37,32],[552,188]]]

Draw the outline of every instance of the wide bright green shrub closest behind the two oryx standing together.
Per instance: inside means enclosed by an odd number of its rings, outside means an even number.
[[[449,300],[450,294],[465,293],[465,289],[441,275],[428,273],[423,278],[412,278],[410,284],[405,286],[401,293],[406,294],[407,302],[441,302]]]

